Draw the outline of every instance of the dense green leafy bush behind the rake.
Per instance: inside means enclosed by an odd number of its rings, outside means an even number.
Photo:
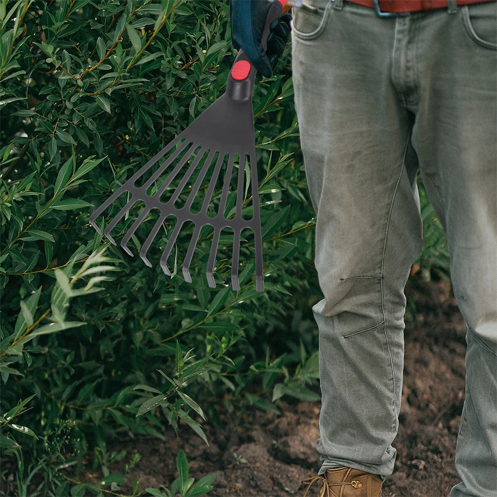
[[[212,289],[209,227],[187,283],[178,270],[191,224],[171,253],[168,277],[159,257],[173,223],[151,248],[149,268],[88,222],[224,92],[236,55],[228,2],[1,0],[0,22],[0,443],[15,463],[18,495],[63,495],[63,467],[74,462],[79,472],[87,453],[108,476],[106,441],[123,432],[164,440],[164,427],[176,430],[181,418],[208,443],[198,419],[218,422],[220,409],[279,412],[285,395],[319,400],[310,308],[322,294],[289,46],[271,78],[258,76],[253,99],[265,292],[255,291],[250,237],[242,240],[234,291],[229,232]],[[105,225],[125,201],[106,211]],[[249,212],[250,195],[244,206]],[[133,206],[115,227],[117,240],[142,208]],[[432,212],[425,214],[432,226]],[[150,219],[130,240],[135,255]],[[72,495],[85,490],[100,492],[75,485]]]

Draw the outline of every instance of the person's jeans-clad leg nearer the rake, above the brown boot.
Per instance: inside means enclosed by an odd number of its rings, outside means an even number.
[[[322,467],[385,480],[404,368],[404,288],[422,247],[413,114],[391,83],[396,21],[336,0],[294,13],[293,85],[317,213]],[[401,36],[404,33],[400,33]]]

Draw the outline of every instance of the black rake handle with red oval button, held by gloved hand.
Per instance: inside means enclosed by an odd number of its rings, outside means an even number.
[[[269,7],[261,38],[264,50],[267,48],[267,37],[269,36],[271,22],[283,13],[284,4],[285,0],[274,0]],[[226,83],[226,93],[228,96],[233,100],[251,99],[256,73],[255,66],[250,62],[244,50],[240,49]]]

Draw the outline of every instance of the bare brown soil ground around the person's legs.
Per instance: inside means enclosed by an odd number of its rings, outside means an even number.
[[[398,453],[383,496],[445,497],[460,481],[454,452],[464,401],[466,325],[449,284],[414,280],[406,293],[422,309],[422,324],[408,324],[405,331],[403,402],[393,444]],[[209,447],[186,425],[180,425],[181,440],[170,428],[166,443],[150,438],[114,441],[108,451],[126,450],[127,455],[110,473],[123,474],[131,455],[139,452],[141,460],[119,492],[131,495],[137,476],[139,491],[161,485],[170,489],[182,448],[189,477],[198,481],[216,474],[209,496],[303,496],[307,486],[300,481],[320,468],[315,445],[321,404],[285,399],[279,407],[280,415],[255,409],[224,414],[222,430],[199,418]],[[88,467],[80,481],[96,483],[101,477]],[[314,484],[308,496],[316,496],[320,488],[319,482]]]

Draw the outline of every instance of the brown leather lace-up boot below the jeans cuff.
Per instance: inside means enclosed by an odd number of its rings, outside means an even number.
[[[319,480],[323,480],[323,487],[318,497],[381,497],[382,495],[383,480],[378,475],[342,466],[327,469],[324,475],[302,480],[301,483],[304,485],[309,484],[304,497],[307,496],[311,485]]]

